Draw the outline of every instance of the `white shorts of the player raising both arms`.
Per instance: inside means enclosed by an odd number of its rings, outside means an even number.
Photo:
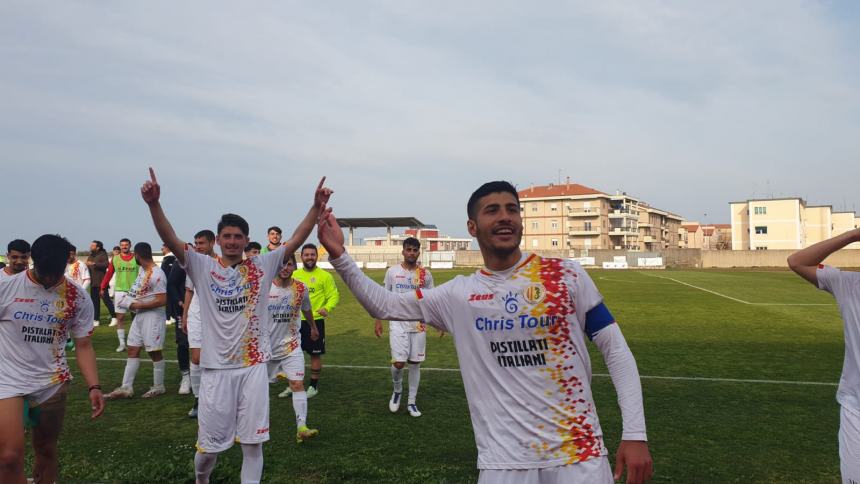
[[[197,451],[218,453],[236,442],[269,440],[266,365],[201,370]]]

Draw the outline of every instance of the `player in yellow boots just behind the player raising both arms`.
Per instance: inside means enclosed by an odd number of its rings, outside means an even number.
[[[289,254],[286,265],[272,281],[269,291],[269,318],[271,329],[269,340],[272,343],[272,359],[269,360],[269,381],[277,381],[279,374],[285,374],[293,394],[293,410],[296,412],[296,441],[304,442],[316,437],[319,431],[308,428],[308,396],[305,392],[305,356],[301,349],[301,318],[299,312],[313,321],[311,299],[308,288],[293,279],[296,270],[296,256]],[[311,339],[319,338],[315,324],[311,324]],[[284,392],[283,396],[288,393]],[[278,395],[281,396],[281,395]]]

